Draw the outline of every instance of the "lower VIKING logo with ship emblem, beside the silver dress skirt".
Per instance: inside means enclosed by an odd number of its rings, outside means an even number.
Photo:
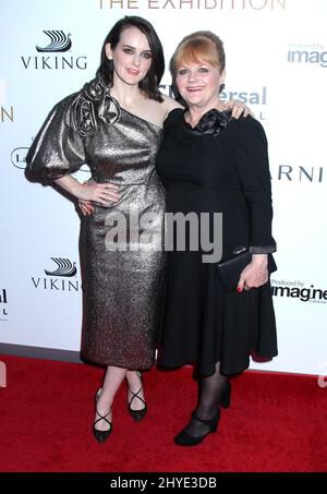
[[[65,257],[51,257],[51,260],[56,264],[56,267],[45,269],[47,277],[32,276],[34,288],[49,291],[80,291],[80,280],[76,279],[76,263],[72,263]]]

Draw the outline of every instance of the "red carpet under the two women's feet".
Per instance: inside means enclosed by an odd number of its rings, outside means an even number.
[[[113,432],[92,435],[93,395],[102,371],[87,365],[0,357],[0,471],[219,472],[327,470],[327,388],[311,376],[246,372],[232,381],[231,408],[217,434],[193,448],[172,438],[189,420],[196,386],[191,369],[145,374],[148,414],[135,423],[125,389]]]

